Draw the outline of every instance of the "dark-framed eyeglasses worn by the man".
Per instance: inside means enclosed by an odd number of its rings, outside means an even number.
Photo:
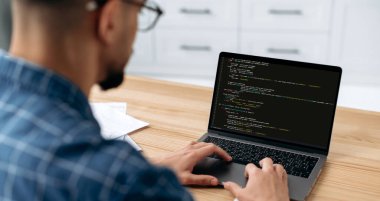
[[[105,5],[108,1],[107,0],[94,0],[90,1],[86,4],[86,10],[87,11],[95,11],[98,8]],[[164,14],[162,9],[153,1],[145,1],[144,3],[136,2],[133,0],[122,0],[124,3],[128,3],[131,5],[135,5],[141,8],[139,12],[139,31],[147,32],[152,30],[159,18]]]

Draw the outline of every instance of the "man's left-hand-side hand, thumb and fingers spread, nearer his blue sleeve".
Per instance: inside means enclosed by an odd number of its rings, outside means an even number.
[[[212,143],[192,142],[184,149],[175,153],[155,159],[157,165],[171,168],[183,185],[218,185],[218,179],[210,175],[192,174],[194,166],[207,156],[216,154],[226,161],[231,161],[232,157],[227,152]]]

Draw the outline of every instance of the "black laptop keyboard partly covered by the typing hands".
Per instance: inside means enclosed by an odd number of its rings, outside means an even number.
[[[222,138],[208,136],[205,142],[213,143],[224,149],[232,156],[233,162],[246,165],[253,163],[259,166],[259,161],[269,157],[274,163],[284,166],[286,172],[290,175],[308,178],[318,158],[296,154],[287,151],[276,150],[268,147],[262,147]],[[216,155],[211,156],[218,158]]]

